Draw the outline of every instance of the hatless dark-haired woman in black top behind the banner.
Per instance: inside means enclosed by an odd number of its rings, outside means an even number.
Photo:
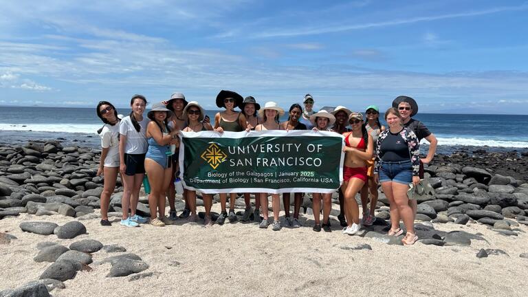
[[[289,107],[288,120],[281,123],[281,130],[306,130],[306,125],[302,122],[299,122],[300,117],[303,114],[303,108],[299,104],[294,103]],[[289,217],[289,193],[283,194],[283,204],[284,212],[286,215],[286,223],[292,226],[293,228],[300,228],[299,223],[299,210],[300,210],[300,201],[303,199],[303,193],[296,192],[294,193],[294,219],[292,220]]]

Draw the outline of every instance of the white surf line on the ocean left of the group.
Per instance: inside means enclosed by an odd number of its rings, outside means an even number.
[[[0,131],[35,131],[96,134],[101,124],[0,124]]]

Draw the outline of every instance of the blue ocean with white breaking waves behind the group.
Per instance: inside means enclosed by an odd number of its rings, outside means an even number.
[[[119,109],[119,112],[128,115],[130,110]],[[214,119],[217,111],[206,113]],[[437,153],[471,153],[476,149],[528,151],[528,134],[521,133],[528,123],[528,115],[419,113],[415,118],[437,136]],[[285,115],[281,120],[286,119]],[[382,115],[380,120],[385,124]],[[68,145],[99,148],[100,137],[96,131],[101,126],[95,108],[0,107],[0,144],[58,139]],[[421,150],[427,151],[427,148],[427,142],[422,140]]]

